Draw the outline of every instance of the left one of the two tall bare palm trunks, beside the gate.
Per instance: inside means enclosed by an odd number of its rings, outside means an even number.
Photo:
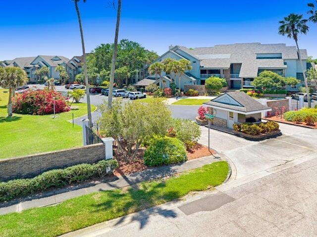
[[[78,9],[78,1],[79,0],[72,0],[72,1],[74,1],[74,3],[75,3],[75,9],[76,9],[77,17],[78,17],[78,24],[79,24],[79,30],[80,30],[81,47],[83,49],[83,66],[84,66],[85,86],[86,86],[86,95],[87,95],[87,113],[88,113],[88,120],[91,123],[92,118],[91,118],[89,83],[88,83],[88,73],[87,73],[87,61],[86,61],[83,27],[81,25],[80,13],[79,13],[79,9]],[[86,0],[83,0],[83,2],[86,2]]]

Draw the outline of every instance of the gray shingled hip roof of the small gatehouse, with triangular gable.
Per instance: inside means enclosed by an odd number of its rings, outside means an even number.
[[[233,98],[239,104],[241,104],[241,106],[214,101],[223,95],[229,95],[231,98]],[[264,106],[263,104],[261,104],[260,102],[258,102],[257,100],[255,100],[254,98],[252,98],[251,96],[247,95],[244,92],[229,92],[229,93],[225,93],[223,95],[219,95],[218,97],[216,97],[216,98],[212,99],[211,101],[206,102],[204,104],[211,105],[211,106],[217,106],[217,107],[221,107],[221,108],[226,108],[226,109],[232,109],[232,110],[245,112],[245,113],[271,109],[269,107]]]

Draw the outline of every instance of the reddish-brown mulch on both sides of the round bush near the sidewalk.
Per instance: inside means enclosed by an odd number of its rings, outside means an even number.
[[[151,167],[148,167],[143,162],[143,155],[145,148],[140,148],[134,161],[132,163],[127,163],[124,157],[121,154],[118,154],[117,148],[113,146],[114,150],[114,157],[119,163],[119,167],[113,171],[114,176],[124,176],[124,175],[130,175],[132,173],[140,172],[143,170],[150,169]],[[209,156],[211,154],[215,154],[216,152],[214,150],[211,150],[211,153],[208,150],[207,146],[204,146],[202,144],[196,144],[196,146],[187,151],[187,157],[188,160],[193,160],[205,156]]]

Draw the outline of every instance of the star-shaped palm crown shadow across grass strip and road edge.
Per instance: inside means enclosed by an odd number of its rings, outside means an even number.
[[[121,213],[122,217],[115,225],[123,223],[127,215],[134,213],[130,222],[140,223],[140,229],[143,229],[149,222],[149,216],[156,213],[165,218],[176,218],[177,213],[173,210],[162,209],[157,206],[162,203],[177,200],[181,197],[175,190],[166,190],[165,182],[151,182],[133,185],[127,190],[110,190],[105,192],[106,201],[94,205],[95,212],[110,211],[112,213]],[[114,217],[115,218],[115,217]]]

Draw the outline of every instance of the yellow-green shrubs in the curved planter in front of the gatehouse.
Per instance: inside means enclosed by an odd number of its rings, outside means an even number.
[[[274,121],[268,121],[268,122],[259,123],[259,124],[242,123],[242,124],[233,125],[234,131],[245,133],[252,136],[270,133],[273,131],[277,131],[278,129],[279,129],[279,125],[278,123]]]

